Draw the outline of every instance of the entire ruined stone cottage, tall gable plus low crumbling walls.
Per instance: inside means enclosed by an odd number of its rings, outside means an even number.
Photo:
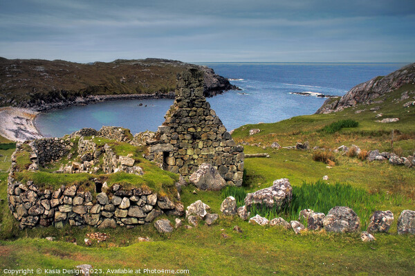
[[[17,181],[19,172],[17,152],[26,147],[31,164],[28,171],[36,172],[48,163],[62,158],[79,157],[62,165],[55,174],[95,174],[100,169],[105,174],[127,172],[142,175],[141,167],[131,156],[117,156],[109,145],[98,147],[86,136],[97,136],[144,146],[144,156],[162,169],[190,176],[199,165],[208,163],[217,169],[226,185],[242,185],[243,147],[236,145],[216,113],[203,96],[203,73],[196,69],[178,75],[176,100],[167,111],[165,122],[156,133],[146,131],[132,136],[128,129],[102,127],[81,129],[64,138],[42,138],[19,144],[12,156],[8,177],[8,203],[20,228],[53,225],[94,226],[98,228],[131,228],[150,223],[160,214],[183,215],[183,204],[167,196],[140,187],[125,189],[118,184],[108,187],[97,178],[95,193],[79,185],[57,190],[41,190],[34,181]],[[78,137],[77,143],[71,138]],[[29,148],[29,149],[27,149]],[[102,158],[100,165],[99,158]],[[183,179],[183,178],[181,178]],[[223,181],[223,179],[222,179]],[[225,182],[223,181],[223,182]],[[179,181],[180,182],[180,181]],[[179,196],[178,196],[179,198]]]

